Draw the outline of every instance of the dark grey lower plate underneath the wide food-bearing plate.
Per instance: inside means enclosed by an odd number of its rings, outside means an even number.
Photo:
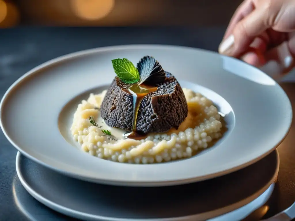
[[[32,197],[57,212],[82,220],[198,221],[214,217],[212,221],[233,221],[246,217],[271,195],[278,175],[279,156],[273,151],[234,173],[172,187],[89,183],[47,169],[19,152],[16,170]]]

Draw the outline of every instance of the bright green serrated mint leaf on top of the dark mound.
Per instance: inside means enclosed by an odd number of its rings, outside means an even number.
[[[124,83],[136,83],[139,81],[139,72],[137,68],[126,58],[112,60],[112,64],[117,76]]]

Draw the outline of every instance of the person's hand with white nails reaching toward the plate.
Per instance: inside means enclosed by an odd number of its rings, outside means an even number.
[[[274,60],[281,73],[289,72],[295,65],[295,0],[244,0],[219,53],[256,67]]]

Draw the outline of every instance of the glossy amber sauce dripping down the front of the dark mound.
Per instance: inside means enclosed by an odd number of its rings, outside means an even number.
[[[128,88],[128,91],[133,96],[133,123],[132,123],[132,130],[124,134],[125,138],[135,139],[135,140],[141,140],[146,138],[146,135],[140,135],[139,133],[136,132],[137,115],[138,115],[138,111],[139,111],[139,107],[140,107],[142,99],[146,95],[153,93],[156,90],[158,90],[158,87],[152,87],[152,86],[148,86],[144,84],[141,84],[141,85],[133,84]]]

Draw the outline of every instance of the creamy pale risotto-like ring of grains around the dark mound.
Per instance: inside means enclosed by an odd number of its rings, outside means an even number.
[[[188,103],[188,116],[179,128],[166,133],[148,134],[143,140],[125,139],[126,132],[105,124],[100,106],[106,91],[90,94],[74,113],[71,133],[85,152],[111,161],[148,164],[188,158],[220,138],[221,116],[212,101],[192,90],[183,88]],[[90,123],[93,118],[97,126]],[[102,130],[109,130],[107,135]]]

